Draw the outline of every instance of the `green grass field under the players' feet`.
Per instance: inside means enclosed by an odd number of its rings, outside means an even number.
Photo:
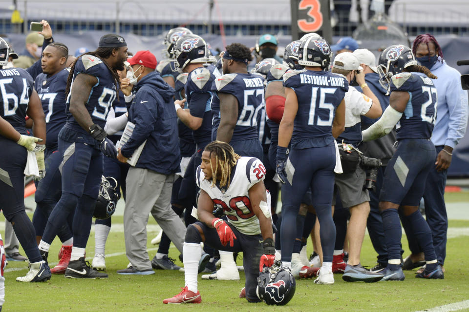
[[[447,201],[469,202],[469,193],[451,195]],[[3,220],[3,216],[0,219]],[[294,298],[283,307],[267,306],[263,303],[249,304],[239,299],[238,293],[244,286],[244,274],[239,281],[208,281],[199,277],[200,305],[164,305],[162,300],[171,297],[184,286],[184,274],[158,270],[154,275],[126,276],[116,270],[127,266],[125,255],[122,216],[112,219],[115,227],[107,241],[108,279],[77,280],[53,275],[45,283],[19,283],[17,276],[27,272],[24,262],[8,263],[5,276],[5,304],[2,311],[55,312],[55,311],[418,311],[469,299],[469,221],[450,220],[452,238],[448,239],[447,260],[444,280],[422,280],[414,272],[406,271],[403,282],[389,281],[365,284],[347,283],[340,274],[335,275],[334,285],[315,285],[312,279],[297,280]],[[156,224],[150,218],[149,224]],[[154,229],[154,227],[151,227]],[[149,240],[157,232],[149,232]],[[405,236],[403,246],[408,254]],[[156,247],[148,245],[150,258]],[[51,246],[49,262],[57,262],[60,241]],[[86,248],[89,261],[94,255],[94,231],[92,230]],[[308,245],[308,253],[312,245]],[[22,254],[24,254],[21,251]],[[170,256],[178,257],[178,251],[171,245]],[[372,266],[376,261],[368,236],[362,249],[362,264]],[[182,264],[176,261],[177,264]],[[238,263],[241,264],[241,263]],[[51,266],[52,267],[52,266]],[[199,274],[200,275],[200,274]],[[469,311],[469,310],[459,310]]]

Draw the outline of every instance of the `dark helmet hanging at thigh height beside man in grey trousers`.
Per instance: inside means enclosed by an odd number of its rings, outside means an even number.
[[[112,181],[114,186],[111,185]],[[99,184],[98,199],[96,199],[96,206],[94,208],[93,217],[96,219],[107,219],[116,211],[117,201],[119,195],[116,191],[117,181],[112,176],[101,176],[101,183]]]

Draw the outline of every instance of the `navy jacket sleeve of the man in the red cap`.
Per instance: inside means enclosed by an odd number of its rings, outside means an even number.
[[[140,103],[145,101],[145,103]],[[158,118],[158,103],[152,95],[140,90],[135,96],[135,103],[132,104],[132,116],[135,128],[132,136],[121,148],[122,155],[132,156],[133,152],[150,136]]]

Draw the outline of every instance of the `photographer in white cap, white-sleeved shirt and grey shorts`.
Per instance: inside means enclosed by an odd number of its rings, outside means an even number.
[[[359,60],[350,52],[339,54],[334,59],[332,73],[345,76],[349,84],[356,80],[363,93],[349,88],[345,93],[345,131],[337,138],[340,143],[342,174],[336,174],[335,187],[341,196],[342,205],[350,209],[347,229],[349,258],[344,270],[346,281],[378,281],[382,275],[371,273],[360,265],[360,252],[365,234],[366,219],[370,211],[368,190],[363,188],[365,172],[359,166],[360,154],[355,147],[362,141],[360,117],[380,117],[382,109],[379,99],[365,83]],[[335,197],[335,196],[334,196]]]

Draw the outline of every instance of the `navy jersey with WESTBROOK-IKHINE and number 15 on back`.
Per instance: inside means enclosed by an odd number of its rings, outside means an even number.
[[[292,148],[304,149],[331,144],[332,122],[341,104],[348,82],[327,71],[295,70],[283,75],[283,85],[292,88],[298,98],[298,112],[292,136]]]

